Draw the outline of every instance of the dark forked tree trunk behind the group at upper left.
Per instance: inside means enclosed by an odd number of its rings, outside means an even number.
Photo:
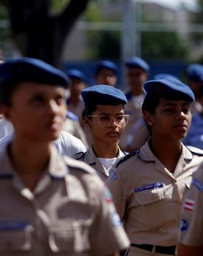
[[[58,66],[64,40],[89,0],[7,0],[13,39],[23,56]],[[53,8],[58,12],[53,13]]]

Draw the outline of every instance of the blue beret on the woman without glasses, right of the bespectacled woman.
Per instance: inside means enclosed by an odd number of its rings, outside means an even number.
[[[175,78],[149,80],[144,83],[144,89],[148,94],[158,94],[164,99],[185,99],[194,101],[194,93],[185,83]]]

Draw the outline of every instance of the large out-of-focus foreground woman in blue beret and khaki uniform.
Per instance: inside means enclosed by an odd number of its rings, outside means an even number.
[[[128,246],[95,171],[52,146],[66,115],[64,72],[11,59],[0,80],[1,110],[15,130],[0,154],[0,255],[115,255]]]

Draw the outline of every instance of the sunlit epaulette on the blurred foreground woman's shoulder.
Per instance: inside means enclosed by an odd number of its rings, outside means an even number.
[[[96,171],[87,163],[83,161],[78,161],[77,159],[73,159],[71,157],[64,157],[64,161],[70,169],[77,169],[81,170],[85,173],[91,173],[91,174],[96,174]]]

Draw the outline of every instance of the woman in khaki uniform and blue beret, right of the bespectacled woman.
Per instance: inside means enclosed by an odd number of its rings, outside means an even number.
[[[132,255],[175,255],[180,208],[202,151],[186,148],[194,94],[180,80],[150,80],[142,112],[151,139],[120,160],[106,184],[123,221]]]

